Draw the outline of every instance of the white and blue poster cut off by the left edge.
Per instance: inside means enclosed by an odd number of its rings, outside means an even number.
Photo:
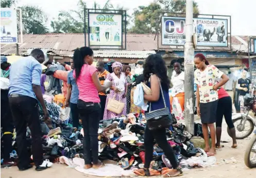
[[[1,43],[18,43],[16,10],[1,8]]]

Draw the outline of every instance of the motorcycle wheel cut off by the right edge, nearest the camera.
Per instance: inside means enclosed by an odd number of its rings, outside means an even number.
[[[253,152],[252,152],[252,149],[253,149]],[[254,160],[250,159],[251,158],[250,153],[254,153],[254,156],[253,156]],[[247,149],[245,151],[244,159],[245,159],[245,165],[248,168],[256,168],[256,135],[255,134],[250,139],[250,142],[249,142],[249,144],[247,146]]]

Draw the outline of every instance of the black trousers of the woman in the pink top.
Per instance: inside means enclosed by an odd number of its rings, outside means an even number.
[[[79,114],[82,117],[83,153],[85,164],[98,163],[98,128],[100,104],[78,100]]]

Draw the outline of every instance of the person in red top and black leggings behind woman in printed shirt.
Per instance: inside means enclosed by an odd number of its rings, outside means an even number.
[[[229,94],[221,87],[218,90],[218,106],[217,106],[217,114],[216,114],[216,148],[222,148],[220,146],[220,137],[221,137],[221,124],[223,120],[223,116],[225,117],[226,123],[230,130],[233,139],[232,148],[236,148],[236,139],[235,139],[235,127],[232,121],[232,99]]]

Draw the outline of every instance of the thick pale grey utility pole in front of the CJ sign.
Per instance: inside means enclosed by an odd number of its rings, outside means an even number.
[[[185,126],[194,134],[194,43],[193,43],[193,0],[186,0],[186,43],[184,45],[185,70]]]

